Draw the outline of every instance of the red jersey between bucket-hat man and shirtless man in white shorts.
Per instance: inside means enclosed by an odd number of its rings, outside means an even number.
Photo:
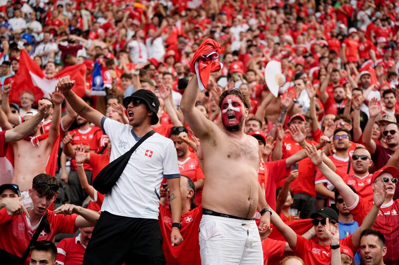
[[[171,232],[172,232],[172,213],[165,206],[159,206],[158,221],[161,228],[164,243],[162,250],[164,252],[166,263],[168,265],[201,265],[200,258],[200,243],[198,240],[200,221],[202,217],[202,207],[198,206],[193,210],[182,213],[180,223],[182,229],[180,233],[184,241],[179,246],[172,247]]]

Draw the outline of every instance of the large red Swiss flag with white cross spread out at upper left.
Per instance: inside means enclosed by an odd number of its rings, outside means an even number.
[[[65,67],[61,72],[56,74],[53,78],[48,79],[44,76],[43,71],[39,66],[29,57],[29,55],[22,50],[19,57],[19,69],[13,77],[12,89],[9,94],[10,102],[20,103],[19,96],[23,91],[30,91],[34,95],[34,100],[37,102],[43,96],[49,97],[49,93],[54,91],[58,80],[63,78],[70,78],[75,80],[75,87],[72,89],[79,97],[84,96],[86,66],[84,64],[73,65]]]

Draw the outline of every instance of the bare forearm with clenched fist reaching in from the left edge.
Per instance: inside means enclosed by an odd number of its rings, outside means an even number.
[[[42,99],[39,100],[38,104],[39,108],[36,115],[34,115],[31,119],[23,122],[22,124],[16,126],[15,128],[5,131],[6,143],[16,142],[26,137],[37,125],[39,125],[43,118],[50,113],[50,101]]]

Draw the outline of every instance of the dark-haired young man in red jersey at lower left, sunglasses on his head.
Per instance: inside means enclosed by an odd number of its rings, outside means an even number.
[[[13,264],[14,259],[22,256],[40,222],[45,225],[37,241],[52,241],[59,233],[74,234],[78,228],[96,224],[100,215],[80,206],[65,204],[54,211],[48,210],[59,193],[58,189],[55,177],[39,174],[33,178],[32,188],[29,189],[33,209],[27,211],[22,205],[20,200],[23,195],[0,200],[0,257],[10,259],[1,262]]]

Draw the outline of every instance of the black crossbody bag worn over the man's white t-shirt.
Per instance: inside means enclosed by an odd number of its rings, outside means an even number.
[[[144,135],[128,152],[118,157],[109,163],[105,168],[103,168],[103,170],[100,171],[100,173],[94,179],[93,187],[101,194],[109,192],[115,185],[116,181],[118,181],[119,177],[121,177],[133,152],[154,133],[155,131],[153,130],[146,133],[146,135]]]

